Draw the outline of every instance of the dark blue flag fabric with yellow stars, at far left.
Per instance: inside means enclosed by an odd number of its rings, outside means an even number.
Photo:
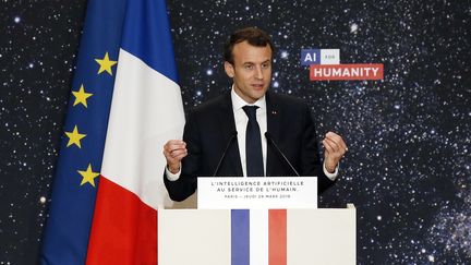
[[[84,182],[86,179],[78,171],[88,177],[100,172],[116,76],[116,64],[110,68],[112,74],[106,71],[98,74],[100,67],[96,59],[105,59],[108,52],[109,60],[118,61],[125,4],[125,0],[88,1],[72,92],[83,86],[85,93],[93,95],[86,99],[87,107],[76,104],[76,96],[71,95],[63,127],[69,133],[76,127],[77,133],[86,136],[77,141],[78,147],[69,145],[70,137],[63,134],[43,239],[41,264],[85,264],[98,178]]]

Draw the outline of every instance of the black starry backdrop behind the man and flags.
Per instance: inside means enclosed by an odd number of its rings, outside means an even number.
[[[85,0],[0,1],[0,264],[36,264]],[[349,153],[323,207],[353,203],[359,264],[471,264],[469,0],[168,0],[185,110],[228,89],[222,41],[256,25],[273,91],[304,98]],[[384,81],[310,82],[302,48],[384,63]]]

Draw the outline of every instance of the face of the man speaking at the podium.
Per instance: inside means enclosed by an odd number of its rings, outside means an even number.
[[[263,97],[271,80],[271,48],[256,47],[247,41],[234,45],[233,64],[225,62],[225,70],[233,79],[235,93],[249,104]]]

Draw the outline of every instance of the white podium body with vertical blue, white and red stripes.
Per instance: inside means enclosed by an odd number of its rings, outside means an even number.
[[[271,216],[270,210],[250,209],[245,214],[259,221],[263,220],[261,216]],[[258,236],[247,236],[250,239],[244,241],[250,249],[244,250],[249,251],[249,257],[244,258],[250,263],[238,263],[234,262],[239,260],[234,256],[238,253],[234,252],[233,236],[243,238],[244,230],[234,233],[234,209],[158,210],[158,264],[355,264],[357,210],[352,204],[347,208],[286,209],[281,213],[286,220],[280,231],[270,230],[271,222],[266,227],[249,225],[250,234]],[[275,241],[285,240],[281,248],[273,249],[271,237]]]

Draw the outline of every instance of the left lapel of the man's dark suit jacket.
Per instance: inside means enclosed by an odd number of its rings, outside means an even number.
[[[232,137],[235,130],[235,121],[233,117],[233,110],[232,110],[232,100],[230,93],[227,93],[222,100],[220,100],[219,105],[219,127],[220,132],[222,133],[224,143],[221,143],[222,148],[226,147],[228,144],[228,141]],[[232,142],[231,146],[228,149],[226,162],[231,165],[231,172],[234,172],[234,176],[243,176],[242,172],[242,164],[239,155],[239,144],[235,138],[235,141]],[[229,172],[226,172],[225,174],[228,174]]]

